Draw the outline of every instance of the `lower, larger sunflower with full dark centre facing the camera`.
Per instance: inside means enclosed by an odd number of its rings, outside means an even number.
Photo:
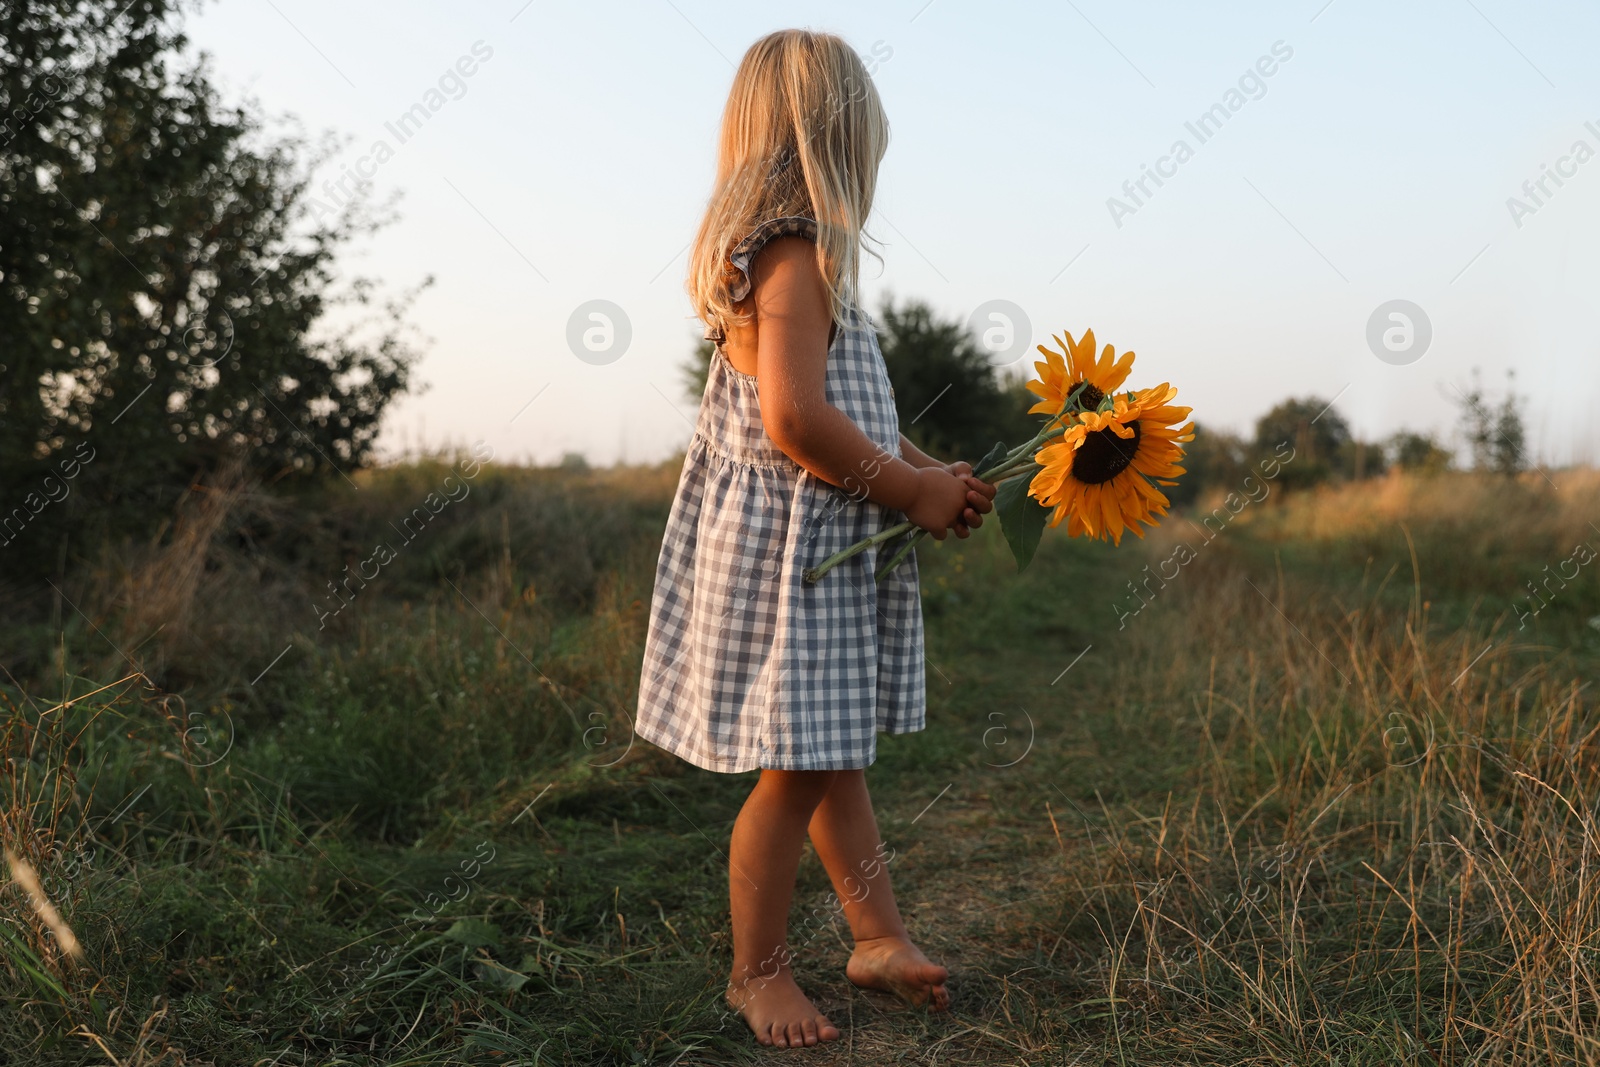
[[[1107,346],[1101,368],[1110,365],[1109,352]],[[1054,509],[1051,526],[1066,518],[1067,536],[1122,544],[1123,530],[1142,537],[1139,523],[1154,526],[1166,514],[1170,501],[1157,485],[1178,485],[1184,442],[1194,440],[1192,422],[1176,426],[1190,411],[1173,406],[1176,397],[1165,382],[1122,394],[1107,411],[1082,413],[1061,438],[1038,450],[1040,470],[1027,491]]]

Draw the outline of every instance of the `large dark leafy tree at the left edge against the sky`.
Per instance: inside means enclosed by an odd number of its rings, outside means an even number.
[[[333,261],[381,219],[184,48],[174,0],[0,10],[0,552],[133,533],[227,459],[347,470],[410,382],[405,301],[317,330],[373,299]]]

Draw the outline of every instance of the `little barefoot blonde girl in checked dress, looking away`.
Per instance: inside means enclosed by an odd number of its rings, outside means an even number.
[[[946,969],[894,905],[864,777],[878,731],[923,728],[917,560],[882,584],[877,550],[802,577],[906,518],[942,541],[994,507],[968,464],[901,437],[856,306],[886,144],[877,90],[843,40],[758,40],[733,80],[690,259],[715,354],[661,545],[638,736],[706,769],[762,769],[728,848],[728,1005],[762,1045],[838,1037],[789,966],[808,833],[854,936],[850,981],[949,1006]]]

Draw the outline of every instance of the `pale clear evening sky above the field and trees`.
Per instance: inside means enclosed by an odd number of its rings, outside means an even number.
[[[926,301],[1014,366],[1093,326],[1133,386],[1245,434],[1320,397],[1368,440],[1448,438],[1475,368],[1515,371],[1538,461],[1600,459],[1595,5],[219,0],[187,24],[226,99],[344,139],[330,208],[354,171],[398,195],[344,261],[434,280],[384,454],[594,464],[688,442],[717,123],[792,26],[845,37],[888,112],[869,310]]]

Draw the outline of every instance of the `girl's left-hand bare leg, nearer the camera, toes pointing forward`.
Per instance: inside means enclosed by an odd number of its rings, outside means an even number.
[[[762,771],[733,824],[728,1005],[744,1014],[762,1045],[797,1048],[838,1037],[838,1029],[795,985],[787,947],[789,904],[806,824],[834,776],[835,771]]]

